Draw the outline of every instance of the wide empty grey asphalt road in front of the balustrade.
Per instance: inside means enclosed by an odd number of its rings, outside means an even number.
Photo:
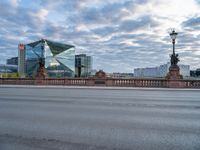
[[[0,150],[199,150],[200,91],[0,88]]]

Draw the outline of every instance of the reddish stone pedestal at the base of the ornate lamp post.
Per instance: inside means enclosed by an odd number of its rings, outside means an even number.
[[[177,65],[170,66],[169,73],[166,76],[168,80],[180,80],[183,79],[183,76],[180,74],[180,69]]]

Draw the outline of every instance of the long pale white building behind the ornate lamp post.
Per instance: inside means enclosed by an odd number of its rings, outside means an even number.
[[[135,77],[165,77],[169,72],[170,63],[160,65],[159,67],[152,68],[136,68],[134,69]],[[190,76],[189,65],[179,65],[180,73],[184,77]]]

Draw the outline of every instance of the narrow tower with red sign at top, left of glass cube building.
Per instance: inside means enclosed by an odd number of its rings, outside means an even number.
[[[25,76],[25,46],[18,45],[18,73],[21,77]]]

